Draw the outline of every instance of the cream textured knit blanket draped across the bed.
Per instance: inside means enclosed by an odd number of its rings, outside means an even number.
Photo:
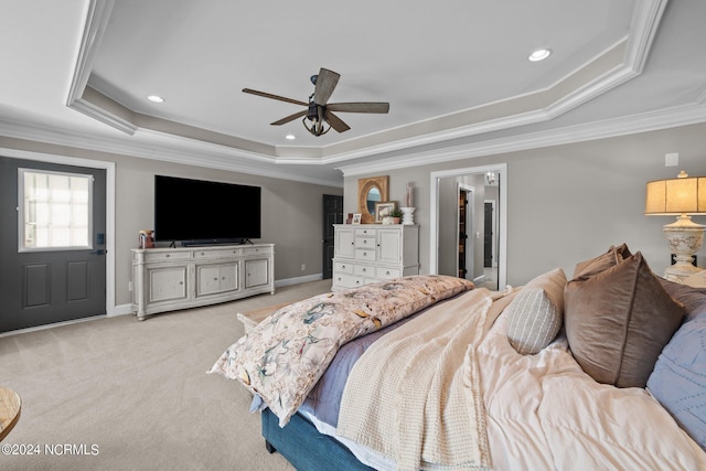
[[[475,345],[510,302],[504,295],[475,289],[375,342],[349,376],[336,433],[399,470],[490,468]]]

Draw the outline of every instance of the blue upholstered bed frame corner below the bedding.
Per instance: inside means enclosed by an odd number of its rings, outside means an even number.
[[[298,471],[372,470],[341,442],[322,435],[303,416],[295,414],[284,428],[269,409],[261,413],[267,451],[279,451]]]

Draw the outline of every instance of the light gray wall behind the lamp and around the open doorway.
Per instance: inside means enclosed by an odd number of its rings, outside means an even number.
[[[680,153],[678,167],[664,154]],[[506,163],[507,282],[523,285],[561,267],[567,276],[577,261],[625,242],[640,250],[659,274],[670,263],[662,226],[671,216],[644,216],[645,183],[674,178],[680,170],[706,175],[706,125],[462,159],[344,179],[345,212],[355,212],[357,179],[389,175],[389,199],[403,201],[415,182],[415,222],[420,224],[421,272],[429,272],[429,179],[432,171]],[[695,216],[699,224],[706,216]],[[706,248],[698,265],[706,266]]]

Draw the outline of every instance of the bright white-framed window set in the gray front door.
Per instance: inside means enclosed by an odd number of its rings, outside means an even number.
[[[93,175],[19,169],[20,251],[93,248]]]

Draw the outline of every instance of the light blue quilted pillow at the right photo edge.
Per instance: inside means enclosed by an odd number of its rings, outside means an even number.
[[[706,311],[685,322],[660,355],[648,389],[706,451]]]

